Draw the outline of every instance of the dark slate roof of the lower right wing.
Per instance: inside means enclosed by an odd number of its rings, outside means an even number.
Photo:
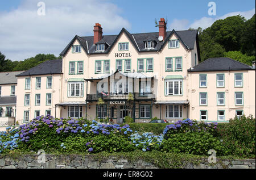
[[[188,69],[188,72],[205,72],[205,71],[221,71],[221,70],[255,70],[251,66],[243,64],[228,57],[208,58],[193,68]]]

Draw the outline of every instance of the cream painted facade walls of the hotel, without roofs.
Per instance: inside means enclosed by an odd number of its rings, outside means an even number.
[[[114,123],[121,123],[126,115],[134,118],[135,122],[150,122],[152,118],[157,117],[167,119],[170,123],[186,118],[228,122],[230,118],[234,118],[237,111],[255,117],[255,69],[188,72],[188,69],[199,64],[196,38],[193,40],[193,48],[188,48],[187,44],[173,33],[160,51],[142,52],[138,51],[137,41],[135,44],[131,42],[131,37],[124,31],[117,37],[108,53],[89,53],[89,49],[96,48],[96,45],[88,48],[88,41],[84,40],[84,48],[79,38],[75,37],[63,55],[62,74],[18,77],[16,120],[24,123],[27,119],[35,118],[36,111],[40,111],[40,115],[46,115],[47,110],[51,110],[51,115],[56,118],[109,118]],[[134,39],[134,36],[132,37]],[[170,48],[171,40],[179,40],[179,47]],[[119,51],[121,43],[128,43],[129,48]],[[79,46],[81,51],[73,52],[74,46]],[[171,70],[167,69],[168,58],[172,58]],[[139,70],[138,65],[141,59],[143,70]],[[147,59],[152,60],[152,70],[147,70],[147,62],[151,62]],[[118,60],[122,61],[121,71],[117,71]],[[129,72],[125,70],[127,60],[130,61]],[[178,60],[181,60],[181,69],[176,68]],[[109,62],[109,72],[105,71],[105,62]],[[97,68],[99,66],[101,68]],[[242,87],[234,87],[234,73],[243,74]],[[207,74],[206,88],[199,87],[199,74]],[[216,87],[217,74],[225,75],[225,87]],[[49,76],[52,76],[52,89],[47,89]],[[41,89],[35,87],[36,77],[42,79]],[[26,78],[31,78],[29,90],[25,89]],[[101,82],[104,82],[103,85]],[[97,91],[99,84],[101,91]],[[217,105],[217,92],[225,93],[224,106]],[[235,92],[243,92],[242,106],[235,105]],[[133,94],[136,101],[127,101],[129,93]],[[200,93],[207,93],[207,106],[200,106]],[[26,94],[30,94],[29,106],[25,106]],[[36,94],[40,94],[40,106],[35,105]],[[49,106],[46,105],[46,94],[52,95]],[[103,106],[97,105],[100,97],[104,99]],[[225,114],[223,120],[219,120],[220,110]],[[207,111],[206,119],[201,118],[201,111]]]

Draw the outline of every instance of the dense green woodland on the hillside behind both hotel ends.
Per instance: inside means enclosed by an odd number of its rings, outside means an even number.
[[[189,28],[191,29],[191,28]],[[216,20],[199,31],[201,62],[210,57],[230,57],[251,65],[255,61],[255,14],[246,20],[240,15]],[[39,54],[23,61],[11,61],[0,52],[0,72],[28,70],[44,61],[61,57]]]

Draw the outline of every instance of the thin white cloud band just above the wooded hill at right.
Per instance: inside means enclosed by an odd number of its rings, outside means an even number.
[[[193,23],[189,24],[186,23],[186,19],[174,19],[173,22],[170,24],[170,29],[173,28],[175,30],[188,30],[189,27],[197,29],[198,27],[201,27],[203,29],[208,28],[212,26],[212,24],[218,20],[218,19],[225,19],[228,16],[234,16],[240,14],[241,16],[244,16],[246,19],[250,19],[255,14],[255,8],[249,11],[238,11],[238,12],[230,12],[228,14],[222,15],[222,16],[208,16],[203,17],[201,19],[194,20]],[[176,27],[175,27],[176,26]]]

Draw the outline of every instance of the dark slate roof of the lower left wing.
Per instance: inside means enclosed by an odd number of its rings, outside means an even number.
[[[62,60],[49,60],[45,61],[34,68],[28,69],[26,72],[16,75],[31,76],[31,75],[44,75],[44,74],[61,74],[62,73]]]

